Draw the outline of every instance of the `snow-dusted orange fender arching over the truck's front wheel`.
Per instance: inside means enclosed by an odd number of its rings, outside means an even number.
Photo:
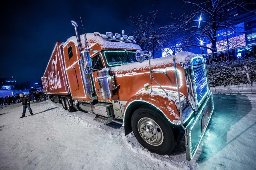
[[[132,96],[126,103],[124,108],[124,119],[123,126],[125,130],[125,135],[128,135],[132,132],[131,127],[131,118],[132,114],[138,107],[140,106],[150,106],[156,109],[159,113],[162,113],[162,116],[166,118],[166,120],[173,125],[180,125],[180,114],[175,105],[175,98],[170,95],[166,95],[162,89],[153,88],[153,92],[150,93],[151,90],[147,91],[142,90]],[[177,96],[177,92],[172,90],[166,90],[168,94],[173,94]],[[181,94],[184,97],[184,94]]]

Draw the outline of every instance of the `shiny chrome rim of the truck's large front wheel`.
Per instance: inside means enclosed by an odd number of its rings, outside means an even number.
[[[142,139],[150,145],[161,145],[164,140],[160,126],[148,117],[143,117],[138,121],[138,131]]]

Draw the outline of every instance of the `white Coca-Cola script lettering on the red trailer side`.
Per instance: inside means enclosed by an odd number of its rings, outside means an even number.
[[[54,56],[54,59],[52,59],[52,71],[48,72],[48,80],[50,85],[50,90],[52,89],[58,89],[61,88],[60,84],[60,72],[57,70],[57,56]]]

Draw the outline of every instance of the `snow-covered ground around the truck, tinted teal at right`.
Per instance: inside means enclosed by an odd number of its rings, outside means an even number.
[[[199,150],[186,161],[183,142],[170,155],[142,148],[123,127],[69,113],[47,100],[0,107],[0,169],[256,169],[256,95],[214,95],[215,109]]]

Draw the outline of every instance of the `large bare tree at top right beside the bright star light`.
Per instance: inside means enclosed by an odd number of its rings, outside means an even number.
[[[241,12],[254,12],[248,10],[248,6],[255,2],[246,0],[206,0],[202,3],[189,2],[184,0],[185,5],[189,4],[196,10],[191,14],[183,14],[180,18],[172,18],[179,21],[176,26],[186,32],[187,39],[184,42],[188,47],[196,46],[210,49],[212,53],[217,51],[217,30],[231,29],[235,30],[232,22],[235,14]],[[201,18],[203,16],[203,18]],[[198,44],[197,40],[200,38],[209,39],[211,46],[205,47]]]

